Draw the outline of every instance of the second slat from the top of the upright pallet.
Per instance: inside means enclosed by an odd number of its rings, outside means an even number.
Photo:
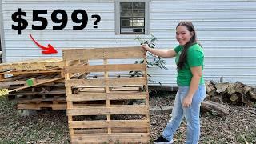
[[[107,64],[95,66],[66,66],[66,73],[89,73],[89,72],[104,72],[104,71],[145,71],[144,64]]]

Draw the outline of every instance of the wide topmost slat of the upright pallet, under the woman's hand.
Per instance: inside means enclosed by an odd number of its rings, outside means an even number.
[[[76,59],[122,59],[122,58],[144,58],[145,50],[141,46],[113,47],[94,49],[68,49],[62,50],[63,59],[66,61]]]

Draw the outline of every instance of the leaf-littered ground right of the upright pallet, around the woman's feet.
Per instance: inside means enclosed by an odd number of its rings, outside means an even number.
[[[151,106],[172,106],[174,94],[155,94]],[[256,115],[246,106],[230,106],[230,114],[219,117],[214,112],[201,113],[201,137],[199,143],[256,143]],[[256,109],[253,108],[256,112]],[[152,138],[157,138],[170,119],[170,114],[150,115]],[[186,121],[183,120],[174,143],[186,141]]]

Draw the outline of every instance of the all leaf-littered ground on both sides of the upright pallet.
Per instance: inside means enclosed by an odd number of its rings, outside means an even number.
[[[150,96],[150,106],[171,106],[174,94]],[[253,109],[256,111],[256,109]],[[230,106],[230,114],[219,117],[214,112],[201,113],[199,143],[256,143],[256,115],[246,106]],[[151,139],[161,134],[170,114],[150,114]],[[0,98],[0,143],[69,143],[65,110],[40,110],[22,117],[15,102]],[[174,136],[174,143],[186,141],[186,121]]]

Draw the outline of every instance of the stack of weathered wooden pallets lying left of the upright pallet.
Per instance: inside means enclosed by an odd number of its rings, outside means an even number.
[[[0,64],[0,87],[18,109],[66,110],[62,58],[41,58]]]

